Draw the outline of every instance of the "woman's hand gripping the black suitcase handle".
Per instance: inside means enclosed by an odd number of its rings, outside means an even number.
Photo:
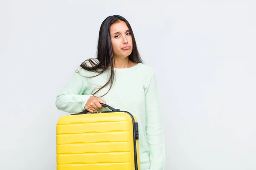
[[[84,109],[89,112],[98,111],[100,108],[102,108],[102,105],[100,103],[106,104],[102,99],[95,96],[90,96],[84,106]],[[104,106],[104,108],[106,107]]]

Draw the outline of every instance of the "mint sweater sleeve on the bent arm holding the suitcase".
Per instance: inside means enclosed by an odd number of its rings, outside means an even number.
[[[84,106],[91,94],[83,94],[88,88],[87,78],[74,72],[73,76],[64,85],[63,89],[56,97],[56,107],[68,113],[79,113],[84,111]]]

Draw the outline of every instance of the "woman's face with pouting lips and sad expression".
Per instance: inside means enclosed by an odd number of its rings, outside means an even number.
[[[114,23],[110,27],[110,36],[113,46],[113,55],[116,58],[125,58],[132,51],[132,37],[124,21]],[[124,48],[128,46],[128,48]]]

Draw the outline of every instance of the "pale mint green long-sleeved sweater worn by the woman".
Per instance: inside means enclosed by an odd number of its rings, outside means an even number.
[[[98,59],[95,59],[98,61]],[[110,75],[110,68],[97,77],[86,78],[97,73],[86,71],[79,66],[63,89],[57,95],[56,107],[68,113],[84,111],[84,105],[96,87],[102,87]],[[110,84],[95,94],[102,96]],[[94,91],[93,89],[96,88]],[[111,90],[100,97],[107,105],[128,111],[137,117],[139,124],[140,168],[141,170],[165,169],[165,144],[163,125],[157,93],[157,82],[154,70],[138,63],[131,68],[115,68],[115,79]],[[109,111],[102,108],[99,111]]]

